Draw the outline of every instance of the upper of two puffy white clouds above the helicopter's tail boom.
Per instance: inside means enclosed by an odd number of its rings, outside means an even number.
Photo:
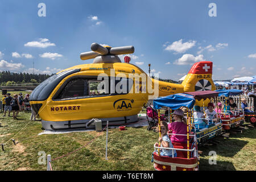
[[[173,42],[171,45],[167,46],[165,50],[175,51],[176,53],[184,53],[185,51],[194,47],[195,45],[195,40],[190,40],[188,42],[182,43],[182,39],[180,39],[179,41]]]

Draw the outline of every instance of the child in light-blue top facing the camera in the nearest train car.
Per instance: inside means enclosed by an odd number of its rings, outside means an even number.
[[[167,135],[167,131],[168,131],[168,124],[165,121],[161,122],[161,137],[159,137],[159,142],[160,142],[160,147],[166,147],[166,148],[174,148],[174,146],[172,145],[172,142],[170,140],[170,138]],[[159,144],[155,143],[155,146],[158,147]],[[161,149],[160,152],[161,156],[169,156],[172,158],[172,150],[168,150],[168,149]],[[177,156],[176,150],[174,150],[174,157]]]

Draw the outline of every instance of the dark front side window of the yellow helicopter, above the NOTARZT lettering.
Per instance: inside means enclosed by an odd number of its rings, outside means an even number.
[[[68,82],[56,99],[61,100],[64,98],[83,96],[88,96],[88,81],[83,78],[76,78]]]

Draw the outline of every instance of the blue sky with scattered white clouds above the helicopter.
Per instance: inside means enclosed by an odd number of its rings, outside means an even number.
[[[39,3],[46,17],[39,17]],[[217,16],[210,17],[209,3]],[[131,63],[179,80],[191,64],[213,61],[214,80],[256,75],[256,1],[0,2],[0,71],[56,73],[97,42],[134,46]]]

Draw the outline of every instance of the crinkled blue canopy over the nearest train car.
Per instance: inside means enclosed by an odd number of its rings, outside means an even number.
[[[153,100],[154,109],[160,109],[163,106],[170,107],[170,109],[179,109],[181,106],[192,109],[196,100],[193,96],[183,93],[160,97]]]

